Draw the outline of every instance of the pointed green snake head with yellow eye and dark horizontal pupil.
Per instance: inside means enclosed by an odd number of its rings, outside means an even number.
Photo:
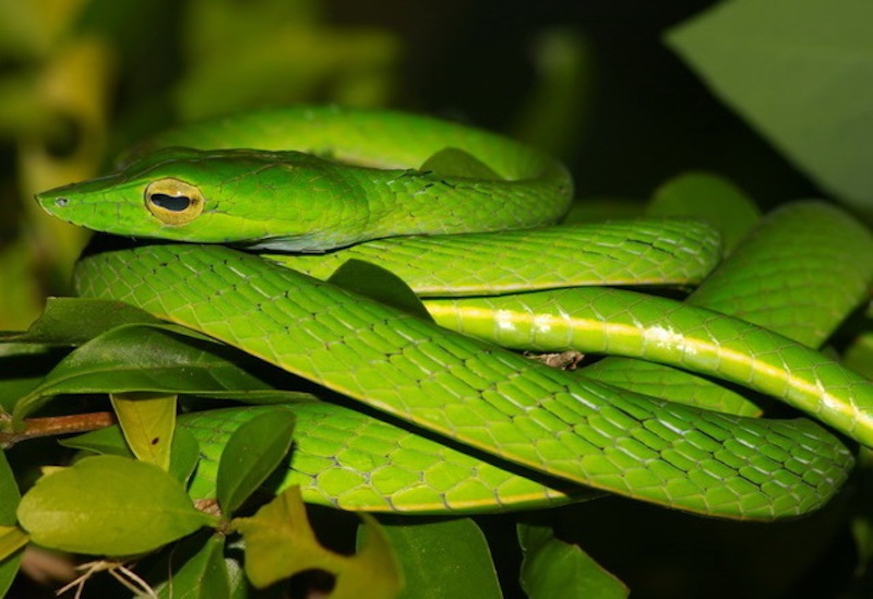
[[[348,228],[355,212],[355,195],[331,173],[328,161],[298,152],[166,147],[36,201],[62,220],[115,235],[323,251],[343,244],[328,237],[342,229],[332,218]]]

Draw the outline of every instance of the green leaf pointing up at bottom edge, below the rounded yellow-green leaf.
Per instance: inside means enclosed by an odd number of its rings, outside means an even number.
[[[201,535],[182,540],[172,550],[171,580],[156,588],[166,599],[228,599],[230,578],[224,558],[224,535]]]

